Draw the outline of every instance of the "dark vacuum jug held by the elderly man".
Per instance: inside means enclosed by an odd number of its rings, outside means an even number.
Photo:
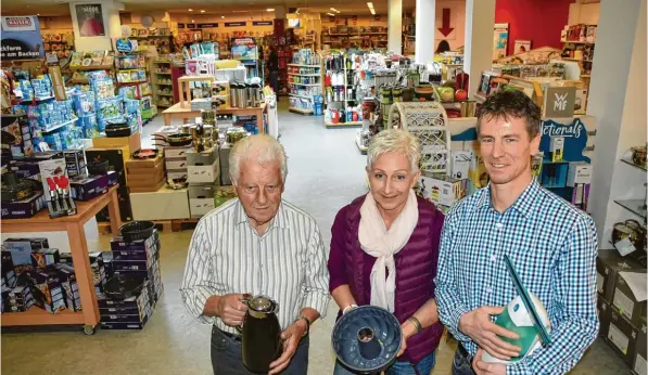
[[[283,348],[277,319],[279,305],[266,296],[245,297],[242,302],[247,305],[247,312],[243,325],[237,327],[242,336],[243,364],[253,373],[267,374],[270,363],[281,355]]]

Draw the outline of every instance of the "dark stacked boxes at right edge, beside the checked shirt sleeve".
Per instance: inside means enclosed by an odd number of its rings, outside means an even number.
[[[646,285],[646,269],[615,250],[600,250],[596,259],[599,335],[636,374],[646,374],[646,299],[631,288]]]

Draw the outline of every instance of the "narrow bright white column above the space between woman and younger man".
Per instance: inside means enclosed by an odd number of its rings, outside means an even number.
[[[434,25],[436,0],[416,0],[416,51],[417,64],[434,61]]]

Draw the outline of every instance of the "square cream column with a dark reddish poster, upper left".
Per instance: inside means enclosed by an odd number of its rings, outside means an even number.
[[[98,4],[101,5],[101,15],[96,13],[93,17],[93,12],[98,11]],[[80,52],[113,50],[114,41],[122,37],[120,9],[124,9],[124,4],[112,0],[71,2],[69,13],[75,49]],[[88,36],[88,34],[103,35]]]

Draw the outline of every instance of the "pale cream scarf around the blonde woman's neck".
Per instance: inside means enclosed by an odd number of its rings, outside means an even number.
[[[394,312],[396,290],[394,254],[405,247],[418,220],[419,204],[411,189],[403,211],[394,220],[389,231],[378,211],[371,192],[365,197],[365,203],[360,207],[358,238],[363,250],[377,258],[371,269],[371,305]],[[385,275],[385,268],[389,270],[389,275]]]

